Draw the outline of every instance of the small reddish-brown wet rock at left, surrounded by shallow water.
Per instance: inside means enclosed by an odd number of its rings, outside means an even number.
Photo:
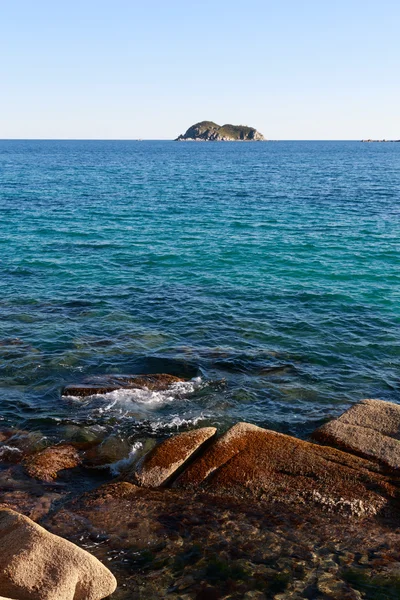
[[[74,446],[52,446],[29,456],[24,461],[25,472],[41,481],[54,481],[59,471],[73,469],[81,464],[81,458]]]

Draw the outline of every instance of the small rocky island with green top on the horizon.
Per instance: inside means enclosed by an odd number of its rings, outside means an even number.
[[[212,121],[201,121],[189,127],[177,142],[262,142],[262,133],[246,125],[217,125]]]

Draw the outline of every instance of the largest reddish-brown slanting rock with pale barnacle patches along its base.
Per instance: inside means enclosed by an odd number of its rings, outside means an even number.
[[[396,498],[396,487],[378,471],[374,463],[334,448],[238,423],[173,487],[365,516]]]

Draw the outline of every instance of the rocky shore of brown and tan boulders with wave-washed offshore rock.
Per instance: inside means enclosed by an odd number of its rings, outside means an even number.
[[[66,391],[162,389],[180,381],[171,377]],[[145,448],[117,477],[97,469],[121,452],[0,431],[1,596],[400,597],[400,406],[363,400],[310,440],[250,423],[193,429]]]

